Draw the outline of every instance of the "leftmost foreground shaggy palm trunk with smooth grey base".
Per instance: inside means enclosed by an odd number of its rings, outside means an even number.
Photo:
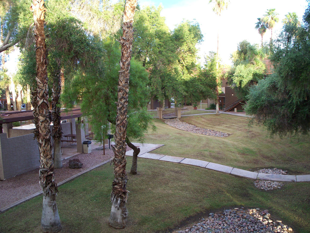
[[[34,39],[36,46],[37,85],[38,85],[38,125],[40,151],[40,186],[43,191],[43,208],[41,228],[43,232],[58,232],[61,230],[60,218],[56,204],[57,185],[55,183],[50,112],[48,110],[48,79],[47,58],[44,34],[44,0],[33,0],[30,7],[34,19]],[[37,116],[34,116],[37,117]]]

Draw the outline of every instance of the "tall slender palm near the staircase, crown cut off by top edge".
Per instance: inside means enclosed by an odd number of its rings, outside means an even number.
[[[221,12],[225,8],[227,9],[229,1],[225,1],[225,0],[210,0],[209,3],[213,3],[214,4],[213,11],[215,12],[215,14],[217,14],[218,16],[221,16]],[[219,58],[219,26],[218,26],[218,32],[217,32],[216,71],[219,68],[218,58]],[[216,77],[216,83],[219,84],[218,75]],[[218,85],[216,85],[215,92],[216,92],[216,99],[215,99],[216,113],[215,113],[215,115],[219,115],[219,87],[218,87]]]

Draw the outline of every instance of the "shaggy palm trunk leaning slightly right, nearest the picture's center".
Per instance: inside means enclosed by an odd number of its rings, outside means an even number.
[[[126,175],[126,129],[127,129],[127,105],[129,90],[129,70],[131,60],[131,48],[133,40],[133,16],[135,13],[136,0],[126,0],[124,10],[124,24],[122,26],[123,36],[120,39],[122,45],[122,55],[120,61],[120,71],[117,90],[117,116],[116,130],[114,134],[114,180],[111,193],[111,214],[110,226],[114,228],[124,228],[127,222],[128,211],[126,202],[128,198],[127,175]]]

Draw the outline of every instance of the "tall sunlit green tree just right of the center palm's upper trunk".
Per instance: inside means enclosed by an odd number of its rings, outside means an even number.
[[[149,72],[149,98],[156,96],[163,101],[165,97],[174,96],[179,85],[173,75],[176,45],[165,18],[160,16],[161,11],[161,6],[136,10],[132,56]]]

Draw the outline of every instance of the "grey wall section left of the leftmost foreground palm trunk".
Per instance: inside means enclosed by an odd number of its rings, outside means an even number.
[[[33,133],[7,138],[0,134],[0,179],[31,171],[40,167],[40,155],[37,140]]]

